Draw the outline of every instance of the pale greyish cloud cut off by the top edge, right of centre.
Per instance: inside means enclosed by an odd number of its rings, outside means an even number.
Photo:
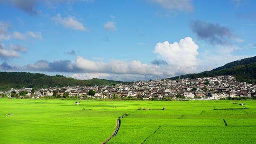
[[[149,0],[152,2],[155,2],[159,4],[161,7],[164,9],[177,9],[180,11],[192,11],[193,10],[193,5],[191,3],[191,0]]]

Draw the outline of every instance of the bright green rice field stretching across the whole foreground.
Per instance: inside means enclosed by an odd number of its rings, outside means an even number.
[[[74,102],[0,98],[0,144],[256,144],[255,100]]]

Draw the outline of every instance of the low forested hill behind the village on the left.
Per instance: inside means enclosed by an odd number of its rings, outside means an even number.
[[[110,81],[104,79],[92,80],[76,80],[73,78],[67,78],[62,75],[48,76],[41,73],[29,73],[29,72],[0,72],[0,90],[9,90],[10,88],[49,88],[49,87],[63,87],[69,86],[103,86],[103,85],[115,85],[126,84],[131,82],[123,81]]]

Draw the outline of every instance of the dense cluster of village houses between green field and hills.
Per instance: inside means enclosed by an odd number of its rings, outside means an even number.
[[[28,91],[29,88],[9,90],[19,92]],[[95,95],[89,98],[110,99],[110,98],[143,98],[143,99],[176,99],[180,96],[186,99],[220,99],[227,97],[253,97],[256,92],[256,85],[236,81],[233,76],[216,76],[197,79],[137,81],[132,84],[117,84],[115,86],[84,86],[84,87],[63,87],[36,90],[33,98],[52,96],[54,91],[63,96],[65,92],[69,96],[84,97],[89,90],[94,90]]]

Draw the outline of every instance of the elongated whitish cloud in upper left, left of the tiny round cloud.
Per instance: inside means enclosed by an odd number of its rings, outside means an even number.
[[[86,28],[83,26],[81,22],[76,20],[75,17],[66,17],[62,18],[61,14],[57,14],[55,17],[52,18],[57,24],[60,24],[66,28],[74,29],[74,30],[86,30]]]

